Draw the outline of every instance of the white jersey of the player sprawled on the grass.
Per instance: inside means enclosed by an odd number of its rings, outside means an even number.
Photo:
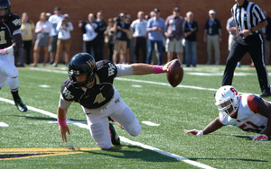
[[[240,97],[237,119],[220,112],[220,121],[224,125],[236,126],[248,132],[262,133],[266,129],[268,119],[250,110],[249,105],[252,106],[254,102],[248,102],[249,95],[243,94]]]

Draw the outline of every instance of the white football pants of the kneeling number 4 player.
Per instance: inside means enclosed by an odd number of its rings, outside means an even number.
[[[134,112],[122,101],[115,88],[114,92],[113,99],[102,108],[89,110],[82,106],[87,114],[90,134],[101,149],[109,149],[112,145],[108,132],[108,116],[120,123],[131,136],[138,136],[141,132],[141,126]]]

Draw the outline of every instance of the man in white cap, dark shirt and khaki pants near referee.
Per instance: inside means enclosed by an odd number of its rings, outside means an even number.
[[[222,41],[220,21],[216,19],[216,12],[209,11],[210,19],[204,26],[204,42],[207,43],[207,65],[211,64],[212,49],[214,50],[215,64],[220,65],[220,42]]]

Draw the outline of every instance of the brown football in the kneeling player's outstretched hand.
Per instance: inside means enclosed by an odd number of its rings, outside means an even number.
[[[168,67],[169,71],[166,73],[166,78],[169,84],[176,87],[182,82],[183,68],[178,59],[174,59]]]

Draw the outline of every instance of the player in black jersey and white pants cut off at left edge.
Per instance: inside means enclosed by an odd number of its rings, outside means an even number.
[[[17,14],[11,13],[8,0],[0,1],[0,32],[0,89],[7,83],[15,106],[24,112],[27,107],[18,93],[18,69],[14,66],[14,52],[23,47],[21,19]]]

